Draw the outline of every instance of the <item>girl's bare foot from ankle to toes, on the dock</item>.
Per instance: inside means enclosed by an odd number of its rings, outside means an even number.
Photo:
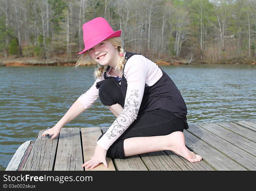
[[[185,145],[185,137],[181,131],[176,131],[168,136],[168,150],[173,151],[177,155],[182,156],[191,163],[199,162],[202,160],[200,155],[190,151]]]

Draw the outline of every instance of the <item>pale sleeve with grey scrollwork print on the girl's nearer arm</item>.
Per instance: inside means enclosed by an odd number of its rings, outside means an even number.
[[[127,61],[124,73],[126,74],[127,80],[124,109],[106,133],[97,141],[97,144],[106,150],[108,150],[134,122],[138,116],[138,111],[143,98],[147,77],[146,64],[143,61],[138,60],[136,55],[134,55]]]

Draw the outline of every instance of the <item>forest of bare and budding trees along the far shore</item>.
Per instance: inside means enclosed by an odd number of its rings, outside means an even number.
[[[255,0],[0,0],[0,14],[0,59],[74,61],[95,17],[122,30],[125,51],[154,60],[256,58]]]

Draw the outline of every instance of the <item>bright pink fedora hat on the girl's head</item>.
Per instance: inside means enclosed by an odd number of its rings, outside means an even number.
[[[106,19],[97,17],[89,22],[83,24],[83,42],[84,49],[78,54],[84,53],[91,47],[99,44],[103,40],[112,37],[119,37],[121,31],[113,31]]]

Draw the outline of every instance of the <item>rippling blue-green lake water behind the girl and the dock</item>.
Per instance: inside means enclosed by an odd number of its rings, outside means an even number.
[[[188,124],[256,121],[255,65],[160,66],[180,90]],[[54,126],[94,82],[93,66],[0,68],[0,170],[18,147]],[[110,126],[99,100],[65,127]]]

